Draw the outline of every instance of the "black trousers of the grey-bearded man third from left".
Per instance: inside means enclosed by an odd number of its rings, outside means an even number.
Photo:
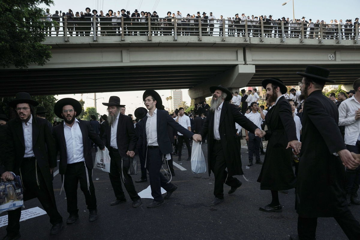
[[[122,190],[122,186],[121,186],[121,181],[123,181],[126,191],[127,193],[129,193],[131,200],[132,201],[138,200],[140,197],[138,193],[136,193],[134,182],[132,182],[131,176],[127,174],[127,171],[129,171],[129,167],[130,167],[130,160],[122,159],[119,154],[119,151],[115,148],[110,149],[109,155],[111,159],[109,178],[116,199],[118,200],[125,199],[124,191]],[[122,179],[123,177],[125,179]]]

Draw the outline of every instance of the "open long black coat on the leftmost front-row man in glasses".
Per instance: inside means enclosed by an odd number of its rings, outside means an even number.
[[[32,117],[32,150],[34,152],[37,165],[44,177],[46,188],[50,193],[53,204],[55,203],[53,181],[50,174],[50,168],[57,165],[56,147],[53,136],[51,135],[46,119]],[[8,122],[8,131],[6,139],[6,159],[4,165],[6,171],[12,171],[20,175],[20,167],[25,154],[25,141],[22,129],[22,122],[17,119],[11,119]],[[24,200],[30,200],[36,196],[24,189]]]

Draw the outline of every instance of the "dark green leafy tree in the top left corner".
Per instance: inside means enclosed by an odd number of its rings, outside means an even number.
[[[51,58],[51,46],[45,40],[44,28],[51,22],[42,20],[44,10],[52,0],[0,1],[0,66],[27,68],[31,63],[44,65]]]

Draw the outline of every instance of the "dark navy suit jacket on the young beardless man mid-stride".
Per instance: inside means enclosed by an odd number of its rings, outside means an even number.
[[[148,116],[144,117],[143,128],[141,130],[141,134],[138,141],[138,149],[142,146],[143,154],[146,156],[147,150],[147,135],[146,135],[146,122]],[[162,154],[172,153],[172,146],[170,141],[170,134],[167,126],[174,128],[177,132],[180,132],[184,136],[191,138],[194,133],[190,132],[179,123],[175,122],[175,120],[167,113],[165,110],[157,109],[156,115],[156,126],[157,126],[157,142]]]

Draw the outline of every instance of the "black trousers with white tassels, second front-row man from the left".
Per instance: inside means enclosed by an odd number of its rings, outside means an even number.
[[[77,214],[77,186],[80,182],[80,189],[84,193],[87,209],[96,209],[95,187],[92,179],[92,170],[87,169],[89,177],[89,190],[87,189],[87,177],[85,162],[67,164],[66,173],[62,175],[64,190],[66,193],[67,211],[70,214]]]

